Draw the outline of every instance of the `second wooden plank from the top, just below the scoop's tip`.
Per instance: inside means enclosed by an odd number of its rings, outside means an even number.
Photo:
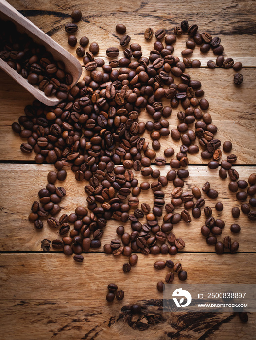
[[[219,138],[222,143],[225,140],[233,143],[232,153],[237,155],[237,164],[256,164],[256,125],[254,123],[256,72],[251,69],[244,69],[241,72],[245,80],[241,88],[237,88],[232,80],[233,70],[189,70],[193,79],[200,79],[202,82],[205,98],[208,98],[210,103],[208,112],[212,115],[213,124],[218,126],[216,138]],[[20,144],[26,140],[21,139],[11,129],[11,124],[18,121],[18,117],[24,114],[23,108],[32,103],[33,97],[5,73],[1,72],[0,75],[2,76],[0,91],[3,94],[0,102],[0,134],[5,136],[0,140],[0,159],[34,160],[34,152],[27,155],[20,151]],[[164,99],[163,103],[170,105],[167,99]],[[181,105],[173,109],[168,118],[170,130],[177,127],[179,123],[177,113],[180,110],[183,110]],[[152,120],[145,110],[142,110],[139,119],[144,122]],[[194,129],[194,124],[190,127]],[[143,136],[151,147],[150,134],[146,131]],[[199,145],[198,140],[195,144]],[[170,135],[161,137],[161,149],[157,152],[157,156],[162,156],[163,151],[170,146],[177,153],[180,145],[181,141],[173,141]],[[190,164],[208,162],[202,160],[200,152],[188,155]]]

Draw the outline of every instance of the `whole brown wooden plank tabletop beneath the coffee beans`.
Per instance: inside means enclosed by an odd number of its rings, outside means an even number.
[[[199,31],[218,35],[224,46],[224,55],[241,61],[244,68],[244,82],[239,87],[233,84],[232,69],[205,68],[208,60],[216,56],[209,52],[200,53],[196,47],[191,59],[201,60],[200,69],[189,69],[193,79],[202,82],[205,98],[209,100],[213,123],[218,126],[217,138],[222,143],[231,140],[232,152],[238,157],[236,169],[239,179],[248,179],[256,172],[256,30],[255,1],[82,1],[74,0],[10,0],[15,8],[33,21],[39,28],[75,55],[75,48],[67,43],[65,23],[70,22],[71,11],[81,9],[83,19],[78,23],[78,40],[83,35],[90,42],[100,45],[99,57],[105,57],[109,46],[119,47],[120,35],[116,33],[117,23],[127,27],[131,42],[142,46],[143,55],[148,56],[155,38],[145,41],[144,30],[152,27],[154,31],[165,28],[168,33],[183,19],[190,24],[197,23]],[[174,44],[174,55],[181,57],[187,36],[178,37]],[[82,62],[82,59],[81,59]],[[85,71],[84,71],[85,73]],[[158,259],[171,258],[170,255],[139,254],[137,266],[131,272],[123,273],[122,265],[127,261],[123,256],[114,258],[105,255],[102,248],[84,254],[83,263],[76,263],[71,257],[51,251],[43,253],[41,241],[54,239],[57,234],[47,225],[43,230],[34,230],[34,225],[27,220],[30,206],[37,199],[37,192],[47,184],[47,173],[53,165],[36,165],[34,154],[20,152],[22,142],[11,130],[11,124],[23,114],[24,106],[33,101],[33,97],[17,85],[5,73],[0,72],[0,324],[3,339],[254,339],[256,332],[255,313],[249,314],[248,323],[242,323],[235,313],[162,313],[162,294],[156,290],[158,280],[164,280],[167,269],[157,272],[154,262]],[[166,102],[167,103],[167,102]],[[170,127],[177,125],[174,109],[168,119]],[[140,119],[150,117],[142,113]],[[145,133],[150,141],[149,134]],[[175,152],[179,143],[170,136],[161,139],[163,154],[166,147],[173,146]],[[223,159],[225,154],[223,154]],[[180,222],[173,232],[183,238],[186,247],[172,256],[175,262],[181,262],[188,272],[186,283],[255,283],[256,248],[255,223],[249,221],[243,213],[233,219],[231,208],[240,206],[235,194],[228,190],[228,179],[222,180],[218,170],[209,170],[205,161],[198,155],[189,155],[190,176],[185,188],[202,185],[209,180],[211,186],[219,191],[216,200],[206,197],[206,204],[213,208],[213,216],[222,218],[226,226],[218,239],[230,235],[239,241],[237,254],[217,255],[214,248],[205,243],[200,233],[205,216],[189,224]],[[170,162],[170,159],[168,159]],[[154,166],[155,168],[155,166]],[[162,167],[161,174],[170,170],[170,165]],[[138,175],[139,182],[144,178]],[[151,180],[151,179],[150,179]],[[77,182],[74,174],[68,176],[62,184],[67,189],[67,196],[61,203],[63,212],[71,213],[78,205],[86,205],[83,187],[85,182]],[[171,200],[169,184],[164,187],[166,202]],[[150,196],[151,197],[151,196]],[[151,200],[147,192],[139,196]],[[215,203],[220,200],[224,210],[217,212]],[[151,203],[152,203],[151,202]],[[181,209],[177,209],[180,212]],[[230,232],[230,225],[241,226],[239,234]],[[46,224],[46,223],[45,223]],[[105,228],[102,244],[116,238],[116,221],[109,221]],[[130,231],[128,223],[125,225]],[[52,249],[51,249],[52,250]],[[105,300],[107,284],[115,282],[125,292],[121,302],[115,300],[108,304]],[[175,279],[175,283],[181,283]],[[124,309],[130,304],[143,306],[139,316],[131,317]],[[124,308],[124,309],[123,309]],[[153,320],[153,322],[152,322]],[[140,328],[144,324],[144,330]]]

